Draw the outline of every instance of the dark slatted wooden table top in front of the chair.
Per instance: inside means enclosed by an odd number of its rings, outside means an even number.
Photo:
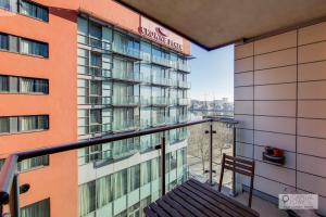
[[[148,217],[258,217],[248,206],[222,194],[205,183],[190,179],[151,203]]]

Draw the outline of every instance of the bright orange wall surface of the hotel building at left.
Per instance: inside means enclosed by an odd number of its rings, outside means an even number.
[[[139,14],[110,0],[35,0],[49,7],[49,23],[0,9],[0,31],[49,43],[49,59],[0,52],[0,75],[49,79],[49,95],[0,94],[0,116],[50,117],[47,131],[0,136],[0,158],[8,154],[77,140],[77,14],[87,13],[134,34]],[[184,52],[190,42],[184,40]],[[21,206],[50,197],[51,216],[78,215],[77,154],[50,156],[50,166],[20,176],[30,190],[21,195]]]

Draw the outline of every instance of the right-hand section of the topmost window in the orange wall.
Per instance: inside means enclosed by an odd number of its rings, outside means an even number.
[[[49,10],[43,7],[36,5],[29,1],[21,1],[20,13],[40,21],[49,21]]]

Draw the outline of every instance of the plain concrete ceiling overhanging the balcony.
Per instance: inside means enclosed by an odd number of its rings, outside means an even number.
[[[326,17],[326,0],[116,1],[208,50]]]

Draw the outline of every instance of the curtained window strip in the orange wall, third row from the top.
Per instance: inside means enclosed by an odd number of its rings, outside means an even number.
[[[0,92],[49,93],[49,80],[0,75]]]

